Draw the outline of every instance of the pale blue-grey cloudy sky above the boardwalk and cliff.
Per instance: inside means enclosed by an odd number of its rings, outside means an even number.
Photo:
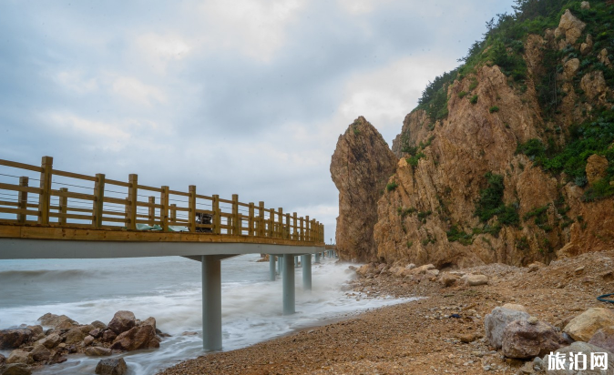
[[[337,138],[392,144],[511,0],[0,2],[0,158],[309,215]]]

